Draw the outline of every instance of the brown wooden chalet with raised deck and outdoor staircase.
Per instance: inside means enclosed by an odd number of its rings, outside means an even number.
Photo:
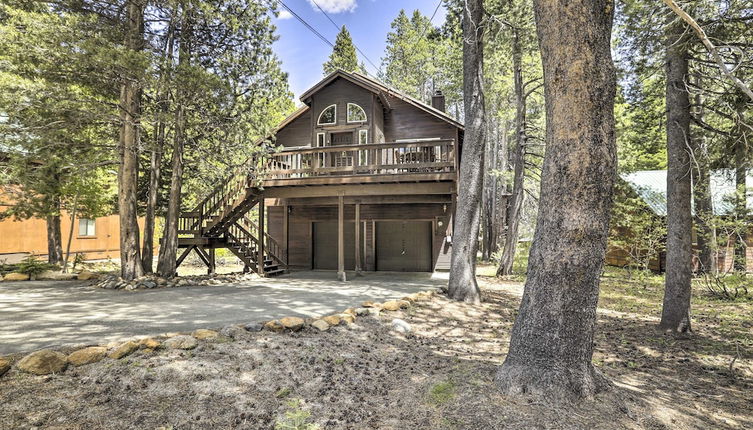
[[[226,247],[262,276],[448,269],[463,125],[441,93],[428,106],[340,70],[301,101],[282,150],[181,214],[178,264],[196,250],[212,271]]]

